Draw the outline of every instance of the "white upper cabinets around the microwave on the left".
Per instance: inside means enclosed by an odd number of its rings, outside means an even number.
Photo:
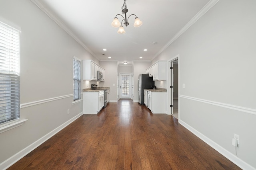
[[[92,60],[83,60],[83,80],[98,80],[98,71],[105,73],[104,68]],[[104,75],[104,74],[103,74]],[[103,76],[105,80],[105,75]],[[101,81],[104,81],[103,79]]]

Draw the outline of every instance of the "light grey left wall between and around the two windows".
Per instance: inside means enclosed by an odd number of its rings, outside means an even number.
[[[4,169],[82,113],[82,102],[72,105],[72,58],[97,59],[30,0],[0,4],[0,18],[21,28],[20,104],[71,95],[20,109],[21,119],[28,121],[0,134],[0,169]]]

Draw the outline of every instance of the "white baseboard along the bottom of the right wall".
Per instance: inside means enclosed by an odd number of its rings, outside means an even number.
[[[204,141],[205,143],[210,145],[210,147],[212,147],[213,149],[217,150],[220,154],[225,156],[231,162],[233,162],[234,164],[236,164],[237,166],[242,168],[243,170],[255,170],[254,167],[252,167],[251,165],[247,164],[246,162],[244,162],[243,160],[241,160],[240,158],[238,158],[237,156],[235,156],[234,154],[232,154],[228,150],[224,149],[223,147],[221,147],[220,145],[218,145],[217,143],[215,143],[214,141],[209,139],[208,137],[204,136],[202,133],[198,132],[196,129],[194,129],[190,125],[186,124],[184,121],[179,119],[179,123],[182,126],[184,126],[186,129],[188,129],[190,132],[194,133],[194,135],[196,135],[197,137],[202,139],[202,141]]]

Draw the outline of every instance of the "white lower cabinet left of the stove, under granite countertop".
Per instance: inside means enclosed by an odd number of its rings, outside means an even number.
[[[83,92],[84,114],[96,114],[104,106],[104,91]]]

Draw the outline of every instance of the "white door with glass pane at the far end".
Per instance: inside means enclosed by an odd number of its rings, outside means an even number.
[[[119,74],[119,96],[121,99],[132,98],[132,74]]]

